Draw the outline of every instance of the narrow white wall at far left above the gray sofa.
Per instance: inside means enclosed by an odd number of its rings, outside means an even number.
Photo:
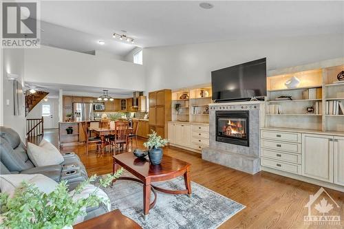
[[[21,140],[25,142],[25,99],[20,107],[20,116],[14,116],[13,105],[13,82],[8,80],[7,74],[19,75],[19,82],[23,85],[24,81],[24,50],[23,49],[3,49],[3,79],[1,93],[3,93],[3,126],[11,127],[19,133]],[[7,105],[7,100],[10,102]]]

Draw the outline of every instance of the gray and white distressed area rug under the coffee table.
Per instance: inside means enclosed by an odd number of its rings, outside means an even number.
[[[132,176],[127,171],[122,176]],[[166,189],[185,189],[184,178],[177,177],[168,182],[157,182],[155,186]],[[142,228],[177,229],[217,228],[224,221],[244,209],[242,204],[228,199],[213,190],[191,182],[193,195],[169,195],[157,191],[157,202],[149,210],[148,219],[143,219],[142,184],[118,180],[113,187],[103,188],[111,199],[111,208],[119,208],[123,215],[136,221]],[[154,195],[151,193],[151,201]]]

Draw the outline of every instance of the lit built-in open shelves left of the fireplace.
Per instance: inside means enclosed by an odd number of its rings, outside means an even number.
[[[210,85],[173,91],[172,121],[208,123],[211,93]],[[179,112],[175,109],[176,104],[180,104]]]

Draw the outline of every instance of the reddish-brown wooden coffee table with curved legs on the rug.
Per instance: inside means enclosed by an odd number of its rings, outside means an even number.
[[[114,155],[113,157],[113,173],[118,170],[118,166],[122,166],[129,171],[129,173],[138,177],[138,179],[133,177],[120,177],[118,179],[129,179],[143,184],[144,219],[147,218],[149,209],[153,208],[155,205],[157,197],[155,190],[169,194],[189,194],[189,197],[191,197],[191,181],[189,176],[191,164],[166,155],[162,156],[162,161],[159,165],[152,165],[146,158],[138,158],[133,155],[133,153],[121,153]],[[167,181],[175,177],[180,177],[181,175],[184,175],[186,186],[186,189],[184,190],[166,190],[151,184],[152,182]],[[112,184],[114,184],[114,182],[116,182],[116,180],[113,180]],[[154,194],[154,200],[152,203],[150,201],[151,191]]]

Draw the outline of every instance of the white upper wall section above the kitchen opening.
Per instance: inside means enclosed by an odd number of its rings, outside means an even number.
[[[25,81],[138,91],[145,88],[142,65],[43,45],[25,50]]]

